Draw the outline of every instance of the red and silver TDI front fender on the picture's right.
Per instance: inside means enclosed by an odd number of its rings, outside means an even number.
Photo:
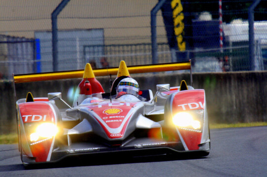
[[[189,117],[186,116],[188,114]],[[179,120],[178,123],[174,122],[175,119]],[[166,101],[165,122],[175,130],[185,150],[209,149],[209,143],[206,144],[210,139],[203,89],[173,93]],[[199,123],[200,127],[191,125],[192,122]]]

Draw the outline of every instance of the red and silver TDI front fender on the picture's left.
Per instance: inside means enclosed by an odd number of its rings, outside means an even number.
[[[31,141],[31,134],[37,127],[44,123],[52,123],[59,127],[61,115],[58,108],[50,102],[25,102],[17,104],[19,118],[19,138],[22,152],[22,160],[30,162],[50,161],[51,152],[55,142],[55,136],[40,137]],[[47,130],[49,132],[51,130]]]

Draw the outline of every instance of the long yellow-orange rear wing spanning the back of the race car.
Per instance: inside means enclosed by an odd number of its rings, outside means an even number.
[[[164,63],[155,65],[139,65],[139,66],[128,66],[129,73],[146,73],[146,72],[160,72],[160,71],[178,71],[178,70],[190,70],[190,82],[192,85],[192,71],[191,62],[181,63]],[[104,75],[117,75],[119,68],[108,68],[108,69],[95,69],[93,73],[95,76]],[[76,71],[59,71],[59,72],[44,72],[34,74],[19,74],[14,75],[14,83],[23,82],[35,82],[45,80],[58,80],[58,79],[70,79],[70,78],[82,78],[84,70]]]

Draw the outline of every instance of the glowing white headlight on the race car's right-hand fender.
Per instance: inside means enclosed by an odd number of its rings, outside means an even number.
[[[178,112],[173,117],[173,123],[181,128],[198,130],[201,128],[201,122],[195,120],[188,112]]]

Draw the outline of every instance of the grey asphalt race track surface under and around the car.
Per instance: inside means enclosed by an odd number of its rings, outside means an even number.
[[[211,130],[205,158],[72,160],[25,170],[17,145],[0,145],[0,177],[267,177],[267,126]]]

